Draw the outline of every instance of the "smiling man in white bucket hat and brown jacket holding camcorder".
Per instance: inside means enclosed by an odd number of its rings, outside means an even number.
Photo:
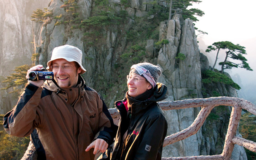
[[[81,50],[70,45],[54,48],[47,62],[54,80],[29,80],[29,72],[41,68],[28,70],[28,84],[4,116],[4,129],[14,136],[32,133],[38,159],[93,160],[112,143],[116,126],[102,98],[80,76],[86,72]]]

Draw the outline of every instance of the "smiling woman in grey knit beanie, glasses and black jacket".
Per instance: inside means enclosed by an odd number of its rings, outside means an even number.
[[[167,98],[167,86],[157,83],[161,69],[134,64],[127,75],[128,91],[115,102],[120,113],[114,144],[98,160],[161,160],[167,120],[156,102]]]

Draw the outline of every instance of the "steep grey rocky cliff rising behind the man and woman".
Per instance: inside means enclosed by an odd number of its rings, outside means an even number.
[[[18,3],[16,1],[12,2],[12,0],[9,2],[12,4]],[[6,24],[5,29],[10,30],[10,33],[6,32],[8,35],[1,37],[1,69],[3,66],[6,68],[6,65],[9,65],[8,68],[13,69],[15,58],[18,58],[18,62],[15,63],[17,66],[24,64],[25,60],[22,60],[24,57],[29,62],[29,58],[34,52],[39,54],[36,63],[46,66],[54,47],[70,44],[77,46],[83,52],[83,66],[87,70],[83,77],[87,85],[97,90],[110,107],[113,106],[115,100],[124,97],[127,90],[125,76],[128,74],[130,65],[143,61],[151,62],[161,67],[163,74],[159,78],[159,82],[168,86],[169,98],[167,100],[203,98],[201,70],[209,68],[209,62],[207,63],[207,58],[199,53],[193,22],[188,19],[183,20],[181,15],[176,14],[169,22],[163,21],[158,24],[159,26],[155,28],[159,32],[157,38],[142,38],[144,40],[142,42],[135,41],[135,39],[132,39],[133,36],[137,39],[143,36],[143,31],[138,30],[138,28],[145,26],[143,23],[148,23],[146,20],[154,20],[154,16],[148,16],[148,10],[151,6],[148,1],[147,3],[145,2],[143,0],[131,0],[124,4],[124,1],[109,0],[107,6],[118,14],[119,18],[122,17],[120,15],[123,11],[126,12],[128,18],[119,19],[119,24],[100,28],[88,25],[85,28],[79,28],[77,25],[72,24],[71,21],[66,24],[63,22],[58,24],[57,22],[61,21],[57,18],[48,18],[43,23],[32,23],[29,20],[29,16],[25,14],[24,8],[27,6],[24,6],[24,4],[35,3],[28,1],[21,3],[20,6],[16,4],[16,10],[17,8],[24,10],[17,11],[17,14],[12,16],[7,11],[6,14],[1,14],[4,16],[0,15],[0,19]],[[63,7],[63,4],[62,0],[51,0],[48,9],[53,11],[53,17],[67,16],[67,9]],[[78,7],[75,10],[79,15],[76,18],[89,20],[95,15],[97,4],[97,1],[78,0]],[[2,5],[0,6],[1,8],[4,8],[3,4],[0,5]],[[10,4],[9,6],[12,5]],[[47,5],[44,7],[47,7]],[[31,8],[30,6],[30,14],[32,13]],[[40,7],[37,6],[36,8]],[[18,15],[26,16],[17,19]],[[8,16],[12,18],[7,18]],[[140,23],[139,20],[143,18],[146,20]],[[89,23],[88,21],[86,22]],[[14,25],[16,23],[19,24]],[[11,28],[8,26],[16,27]],[[24,29],[21,29],[22,27]],[[147,26],[145,28],[148,29]],[[10,34],[13,36],[9,36]],[[12,38],[8,39],[6,37]],[[11,41],[13,39],[15,41]],[[34,45],[30,44],[31,40]],[[161,40],[168,40],[168,43],[155,48],[154,43]],[[136,44],[134,44],[135,42]],[[12,45],[10,46],[10,44]],[[138,44],[140,45],[138,46]],[[185,58],[179,58],[179,55]],[[4,73],[1,75],[8,75],[10,70],[8,72],[0,70],[0,72]],[[219,89],[222,96],[237,97],[234,88],[222,84],[216,85],[215,87]],[[6,93],[1,94],[2,97],[4,97],[3,94],[6,96]],[[1,106],[6,105],[2,105],[6,103],[3,101],[6,101],[6,99],[2,99]],[[9,110],[9,108],[7,109]],[[2,110],[6,112],[3,108]],[[169,121],[167,134],[170,135],[187,128],[193,123],[199,110],[200,108],[189,108],[165,112]],[[222,108],[213,110],[215,112],[214,115],[217,115],[219,110],[222,110]],[[194,136],[166,146],[163,151],[163,157],[220,154],[219,152],[222,151],[221,146],[224,142],[223,138],[225,138],[223,136],[225,131],[223,130],[228,125],[230,110],[225,110],[225,113],[218,115],[217,119],[207,120],[201,131]],[[234,153],[239,155],[235,155],[233,157],[234,160],[246,159],[243,148],[237,147]]]

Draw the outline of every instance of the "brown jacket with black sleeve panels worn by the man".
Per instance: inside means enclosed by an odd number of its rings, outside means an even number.
[[[60,90],[52,81],[43,88],[28,84],[17,105],[4,116],[4,128],[13,136],[28,136],[36,128],[47,160],[93,160],[95,139],[111,143],[113,120],[98,93],[84,85]]]

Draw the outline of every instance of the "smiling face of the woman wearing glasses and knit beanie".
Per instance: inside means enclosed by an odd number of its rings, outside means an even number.
[[[138,74],[129,74],[127,86],[131,97],[136,97],[152,88],[151,84]]]

